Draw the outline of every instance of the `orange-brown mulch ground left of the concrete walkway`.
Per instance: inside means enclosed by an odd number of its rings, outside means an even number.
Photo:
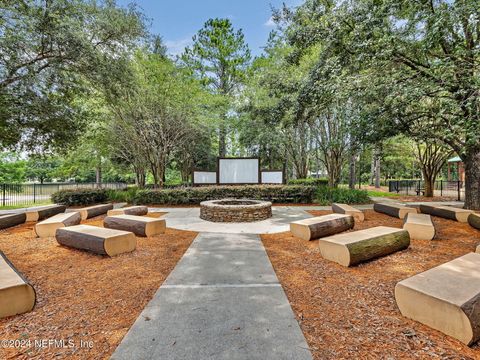
[[[101,226],[102,219],[84,223]],[[196,236],[167,228],[137,237],[136,251],[109,258],[37,239],[33,225],[0,231],[0,250],[37,293],[32,312],[0,319],[0,340],[30,339],[31,347],[0,348],[1,359],[108,358]],[[65,340],[65,348],[41,348],[35,340]],[[93,348],[80,348],[80,341]]]

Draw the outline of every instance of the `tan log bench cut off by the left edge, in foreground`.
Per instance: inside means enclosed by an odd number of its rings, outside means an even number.
[[[35,300],[33,286],[0,251],[0,318],[31,311]]]

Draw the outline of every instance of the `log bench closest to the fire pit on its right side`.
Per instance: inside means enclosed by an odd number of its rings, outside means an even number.
[[[315,240],[350,230],[354,225],[351,215],[329,214],[292,222],[290,232],[303,240]]]

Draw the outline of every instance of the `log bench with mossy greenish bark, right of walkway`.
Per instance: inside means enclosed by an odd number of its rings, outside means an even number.
[[[387,226],[337,234],[319,240],[322,257],[353,266],[410,246],[408,231]]]

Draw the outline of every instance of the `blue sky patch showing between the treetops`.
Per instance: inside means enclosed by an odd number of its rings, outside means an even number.
[[[180,54],[209,18],[229,18],[241,28],[253,55],[259,55],[274,28],[271,7],[294,6],[301,0],[118,0],[138,4],[151,21],[150,31],[163,37],[171,55]]]

